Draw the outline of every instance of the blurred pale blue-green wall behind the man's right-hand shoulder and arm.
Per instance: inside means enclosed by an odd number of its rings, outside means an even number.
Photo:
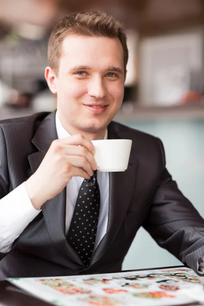
[[[204,217],[204,119],[132,120],[121,123],[159,137],[166,151],[167,169]],[[122,247],[122,246],[121,246]],[[140,228],[123,262],[123,270],[180,265]]]

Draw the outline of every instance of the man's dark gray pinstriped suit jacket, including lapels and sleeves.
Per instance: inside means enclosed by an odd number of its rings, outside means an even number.
[[[109,174],[108,229],[90,267],[66,241],[64,189],[43,205],[12,250],[0,253],[0,279],[119,271],[140,226],[196,271],[204,221],[166,170],[161,141],[116,122],[109,124],[108,137],[132,139],[133,145],[127,170]],[[0,122],[0,198],[36,171],[54,139],[55,112]]]

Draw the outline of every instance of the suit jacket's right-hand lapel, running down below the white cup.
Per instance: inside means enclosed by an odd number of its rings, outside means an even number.
[[[108,138],[127,138],[127,135],[116,133],[109,125]],[[134,144],[132,145],[129,165],[124,172],[109,172],[109,216],[107,233],[96,248],[92,264],[96,262],[113,242],[119,227],[124,219],[127,208],[135,189],[138,161],[133,156]]]

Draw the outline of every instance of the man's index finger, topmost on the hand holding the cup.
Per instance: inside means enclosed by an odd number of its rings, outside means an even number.
[[[72,135],[70,137],[63,138],[60,141],[66,145],[81,145],[85,147],[91,154],[95,154],[95,149],[92,142],[81,134]]]

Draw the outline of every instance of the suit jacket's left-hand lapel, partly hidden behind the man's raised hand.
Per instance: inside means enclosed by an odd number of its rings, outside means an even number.
[[[49,146],[57,139],[55,123],[56,112],[50,113],[38,127],[32,142],[38,148],[38,152],[28,156],[29,163],[34,173],[42,162]],[[77,263],[81,260],[66,241],[65,217],[66,217],[66,188],[54,198],[48,200],[42,206],[42,213],[45,220],[48,236],[51,242],[67,257]]]

